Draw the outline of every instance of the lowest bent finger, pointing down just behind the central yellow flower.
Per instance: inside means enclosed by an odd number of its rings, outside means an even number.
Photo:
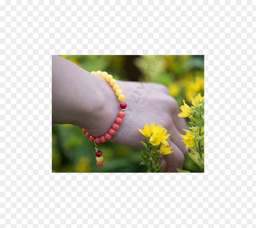
[[[176,168],[182,169],[183,161],[184,161],[184,155],[179,149],[179,147],[176,146],[170,139],[167,139],[169,145],[172,147],[172,153],[171,154],[165,154],[163,155],[166,163],[168,164],[168,169],[170,172],[177,172]]]

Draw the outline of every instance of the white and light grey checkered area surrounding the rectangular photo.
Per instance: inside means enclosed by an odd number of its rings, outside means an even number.
[[[255,226],[255,1],[209,2],[0,1],[1,227]],[[205,173],[51,173],[52,54],[204,54]]]

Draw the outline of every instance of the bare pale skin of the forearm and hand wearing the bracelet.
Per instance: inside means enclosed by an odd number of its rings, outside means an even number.
[[[180,134],[186,134],[184,118],[177,116],[180,109],[168,89],[157,83],[117,81],[126,95],[127,108],[112,143],[143,149],[143,135],[138,131],[145,122],[162,125],[170,134],[168,143],[174,151],[163,155],[162,172],[177,172],[187,154]],[[144,88],[143,88],[144,87]],[[134,92],[136,91],[136,92]],[[141,94],[141,95],[138,95]],[[83,127],[97,137],[105,135],[115,123],[119,100],[105,79],[91,74],[59,56],[52,56],[52,123],[73,124]]]

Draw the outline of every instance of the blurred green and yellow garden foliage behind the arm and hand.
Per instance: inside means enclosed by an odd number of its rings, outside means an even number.
[[[204,56],[193,55],[62,55],[83,69],[107,71],[113,78],[123,81],[154,81],[166,85],[179,106],[184,99],[191,103],[190,95],[204,96]],[[147,67],[154,72],[147,71]],[[188,119],[188,118],[186,118]],[[185,146],[185,144],[184,144]],[[140,149],[114,143],[101,143],[103,166],[96,165],[94,145],[77,126],[52,125],[52,172],[146,172]],[[185,157],[184,170],[201,172],[197,165]]]

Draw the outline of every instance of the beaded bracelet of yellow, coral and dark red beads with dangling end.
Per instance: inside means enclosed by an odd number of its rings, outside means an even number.
[[[87,133],[84,128],[80,127],[82,129],[82,132],[85,134],[85,137],[88,138],[91,142],[94,143],[94,148],[96,150],[95,155],[96,155],[96,164],[98,166],[103,165],[103,157],[102,153],[100,150],[98,150],[98,144],[99,143],[105,143],[106,140],[110,140],[112,138],[112,135],[116,133],[116,130],[119,128],[119,124],[123,122],[123,117],[125,116],[124,114],[124,109],[126,108],[126,103],[125,103],[125,95],[123,95],[123,91],[120,89],[120,86],[116,84],[116,80],[113,79],[111,74],[108,74],[106,71],[91,71],[91,74],[98,75],[101,78],[106,79],[107,82],[112,86],[113,90],[116,92],[116,95],[118,96],[118,100],[121,101],[120,103],[120,108],[122,111],[118,113],[118,117],[116,118],[116,123],[112,124],[112,128],[108,130],[108,132],[105,135],[102,135],[100,137],[94,137]]]

